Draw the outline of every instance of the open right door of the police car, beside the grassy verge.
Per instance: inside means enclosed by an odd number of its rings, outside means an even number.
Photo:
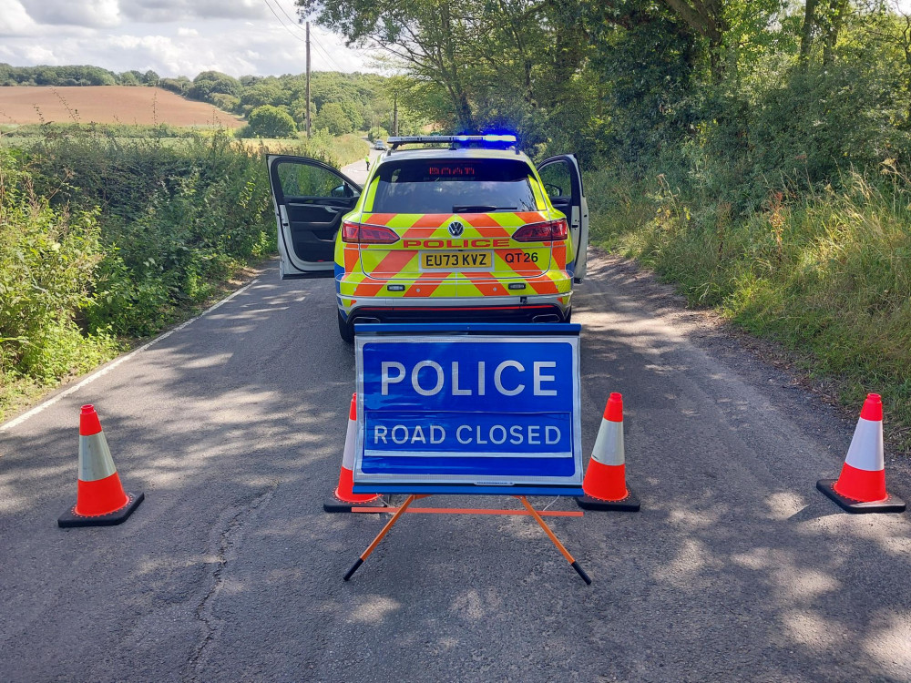
[[[582,192],[582,173],[571,154],[545,159],[537,166],[550,203],[569,220],[575,260],[572,263],[573,281],[585,277],[586,250],[589,246],[589,204]],[[569,264],[568,264],[569,265]]]

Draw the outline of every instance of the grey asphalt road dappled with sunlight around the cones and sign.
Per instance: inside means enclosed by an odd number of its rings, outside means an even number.
[[[853,424],[604,257],[574,309],[583,445],[623,392],[642,512],[552,519],[594,584],[527,518],[449,515],[343,583],[385,515],[322,512],[353,391],[334,306],[271,268],[0,431],[0,679],[911,680],[907,515],[814,491]],[[124,525],[56,526],[82,403],[146,494]]]

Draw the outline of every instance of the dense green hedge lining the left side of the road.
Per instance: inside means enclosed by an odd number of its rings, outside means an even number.
[[[172,142],[76,130],[0,147],[0,417],[275,250],[262,150]]]

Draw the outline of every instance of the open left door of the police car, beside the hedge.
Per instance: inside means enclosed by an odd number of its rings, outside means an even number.
[[[266,161],[281,279],[333,277],[335,233],[361,186],[316,159],[270,154]]]

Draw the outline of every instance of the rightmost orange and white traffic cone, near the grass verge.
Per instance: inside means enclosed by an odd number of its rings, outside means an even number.
[[[905,503],[885,491],[883,458],[883,401],[867,394],[855,435],[837,481],[820,479],[816,488],[846,512],[904,512]]]

